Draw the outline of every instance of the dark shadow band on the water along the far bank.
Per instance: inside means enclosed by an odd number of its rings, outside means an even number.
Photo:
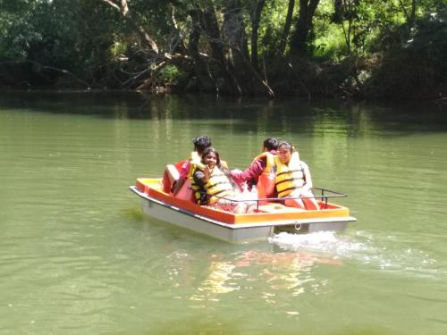
[[[206,95],[150,96],[139,92],[8,92],[0,105],[11,110],[70,113],[124,120],[191,120],[232,130],[266,133],[327,133],[347,137],[401,136],[446,131],[447,107],[435,103],[308,102]]]

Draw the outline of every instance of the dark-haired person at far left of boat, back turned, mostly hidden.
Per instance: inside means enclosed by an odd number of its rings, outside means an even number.
[[[190,153],[190,157],[186,161],[181,161],[179,163],[168,164],[164,169],[163,174],[163,190],[166,193],[172,193],[173,196],[188,197],[184,195],[184,192],[179,192],[181,189],[187,192],[190,185],[185,185],[185,181],[188,180],[188,175],[192,174],[190,171],[195,163],[200,163],[201,155],[207,147],[211,147],[211,138],[206,135],[198,136],[192,140],[194,145],[194,150]]]

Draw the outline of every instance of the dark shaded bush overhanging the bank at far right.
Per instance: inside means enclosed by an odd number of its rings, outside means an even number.
[[[445,95],[447,88],[447,12],[426,14],[396,26],[381,41],[382,66],[374,72],[373,94],[389,97]],[[379,85],[381,83],[381,85]]]

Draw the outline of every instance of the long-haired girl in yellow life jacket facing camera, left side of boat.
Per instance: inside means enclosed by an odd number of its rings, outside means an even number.
[[[220,160],[214,147],[207,147],[202,154],[202,165],[197,165],[192,175],[192,189],[198,205],[208,205],[232,213],[251,213],[254,202],[238,200],[238,193],[228,178],[230,171]],[[232,201],[235,200],[235,201]]]

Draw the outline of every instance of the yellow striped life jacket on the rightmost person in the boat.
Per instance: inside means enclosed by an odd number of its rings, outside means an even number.
[[[287,197],[295,188],[301,188],[306,183],[304,169],[299,163],[299,155],[295,151],[291,154],[288,164],[281,162],[279,156],[274,156],[276,165],[276,177],[274,187],[278,197]]]

